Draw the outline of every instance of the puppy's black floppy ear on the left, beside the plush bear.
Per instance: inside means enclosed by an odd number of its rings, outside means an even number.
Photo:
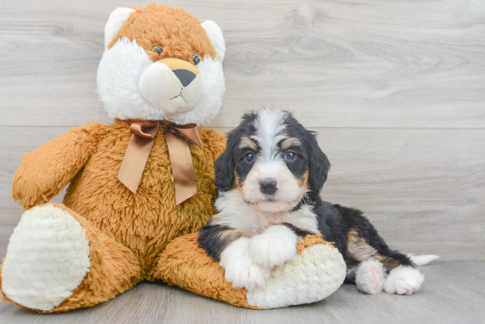
[[[234,184],[234,168],[236,162],[234,160],[234,150],[238,143],[238,138],[233,130],[227,135],[226,150],[214,162],[215,179],[214,184],[220,191],[228,191]]]

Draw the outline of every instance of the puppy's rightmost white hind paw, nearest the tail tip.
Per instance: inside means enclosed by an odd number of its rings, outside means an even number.
[[[424,275],[419,270],[409,266],[399,266],[393,269],[384,285],[384,290],[390,294],[410,295],[421,288]]]

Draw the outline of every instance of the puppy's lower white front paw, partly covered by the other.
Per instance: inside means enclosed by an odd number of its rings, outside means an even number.
[[[264,285],[271,276],[271,270],[258,266],[249,257],[249,242],[249,238],[241,237],[221,253],[219,265],[225,269],[226,280],[235,288],[251,290]]]

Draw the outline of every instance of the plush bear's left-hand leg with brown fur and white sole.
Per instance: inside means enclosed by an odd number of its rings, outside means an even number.
[[[139,281],[133,252],[62,204],[26,211],[0,269],[2,300],[38,312],[94,306]]]

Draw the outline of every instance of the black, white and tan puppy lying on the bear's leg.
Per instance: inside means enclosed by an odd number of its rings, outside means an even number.
[[[421,287],[413,262],[390,250],[362,212],[321,200],[329,168],[315,133],[290,112],[246,113],[228,134],[215,162],[218,214],[201,228],[199,244],[233,286],[263,285],[295,256],[299,238],[320,233],[335,242],[346,280],[361,291],[411,294]]]

